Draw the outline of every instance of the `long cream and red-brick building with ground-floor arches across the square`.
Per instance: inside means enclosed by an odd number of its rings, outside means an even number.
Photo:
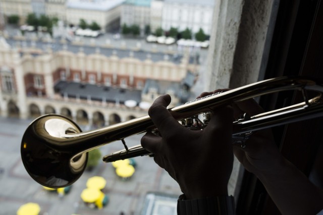
[[[11,48],[4,39],[0,44],[2,116],[27,118],[60,113],[79,122],[113,124],[146,115],[148,106],[141,106],[141,102],[151,104],[155,99],[149,96],[153,92],[146,92],[142,99],[148,79],[181,84],[187,72],[195,68],[185,59],[176,64],[167,59],[155,62],[149,57],[139,60],[131,55],[119,58],[116,54],[73,53],[64,49],[37,54]],[[97,90],[94,86],[98,86]],[[91,88],[92,94],[82,94],[83,88]],[[107,96],[107,92],[114,94]],[[94,98],[100,93],[106,96]],[[127,105],[128,100],[135,100],[136,104]],[[174,95],[172,106],[178,101]]]

